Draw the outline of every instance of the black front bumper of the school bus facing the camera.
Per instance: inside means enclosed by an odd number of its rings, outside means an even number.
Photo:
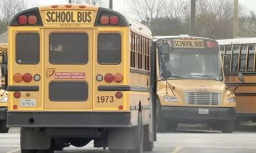
[[[199,114],[199,109],[209,109],[209,114]],[[236,110],[233,107],[161,107],[160,115],[162,118],[186,122],[236,120]]]

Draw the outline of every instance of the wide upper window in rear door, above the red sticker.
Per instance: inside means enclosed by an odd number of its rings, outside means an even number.
[[[51,33],[50,63],[83,65],[88,62],[87,33]]]

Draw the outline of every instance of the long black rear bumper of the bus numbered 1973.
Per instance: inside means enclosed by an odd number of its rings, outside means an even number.
[[[8,112],[9,127],[130,127],[129,112]]]

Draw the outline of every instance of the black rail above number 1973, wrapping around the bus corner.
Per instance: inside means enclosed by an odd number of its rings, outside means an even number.
[[[152,88],[141,86],[98,86],[99,91],[139,91],[152,92]]]

